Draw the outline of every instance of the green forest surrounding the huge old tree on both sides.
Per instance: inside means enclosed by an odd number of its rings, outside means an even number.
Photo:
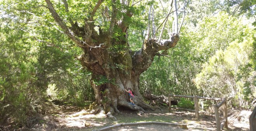
[[[59,5],[56,8],[64,8],[61,0],[55,2]],[[90,3],[97,0],[67,2],[90,9]],[[138,3],[134,7],[140,17],[132,17],[133,24],[128,29],[133,51],[141,47],[145,38],[147,12],[152,2],[158,11],[154,14],[156,25],[166,16],[165,0]],[[254,109],[255,4],[253,0],[187,0],[180,41],[164,52],[170,57],[155,57],[140,76],[141,94],[149,89],[152,94],[165,96],[172,93],[226,97],[229,108]],[[178,17],[183,16],[180,10]],[[86,17],[83,10],[70,12],[75,17]],[[172,26],[173,17],[169,21],[166,29]],[[165,30],[163,38],[168,33]],[[113,50],[121,51],[118,47]],[[29,118],[49,113],[53,104],[82,107],[95,101],[90,85],[92,73],[77,60],[81,52],[50,17],[44,1],[1,0],[0,125],[28,126]],[[97,81],[98,84],[105,79]],[[186,104],[187,100],[182,101]],[[212,103],[201,104],[207,109]]]

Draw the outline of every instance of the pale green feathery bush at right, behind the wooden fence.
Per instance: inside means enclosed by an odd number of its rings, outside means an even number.
[[[252,68],[255,67],[252,65],[255,58],[249,59],[253,53],[252,44],[253,39],[248,36],[243,42],[231,42],[224,51],[218,50],[197,75],[197,87],[208,97],[230,98],[231,104],[237,108],[254,107],[251,102],[256,99],[255,70]]]

